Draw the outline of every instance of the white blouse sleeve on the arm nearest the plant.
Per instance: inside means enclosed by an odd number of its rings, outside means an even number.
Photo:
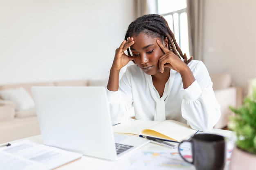
[[[220,105],[206,66],[198,62],[192,73],[195,81],[182,90],[182,117],[191,128],[209,131],[220,119]]]

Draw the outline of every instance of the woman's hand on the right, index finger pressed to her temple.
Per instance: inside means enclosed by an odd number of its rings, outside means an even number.
[[[188,66],[178,57],[173,53],[173,51],[170,51],[162,42],[160,42],[157,39],[157,44],[158,46],[162,49],[164,55],[159,58],[159,71],[161,73],[164,73],[164,68],[169,67],[177,72],[181,72],[184,69],[187,69]]]

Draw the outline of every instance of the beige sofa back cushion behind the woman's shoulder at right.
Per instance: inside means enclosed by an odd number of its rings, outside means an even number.
[[[231,75],[228,73],[211,73],[210,77],[213,82],[213,90],[229,88],[232,86]]]

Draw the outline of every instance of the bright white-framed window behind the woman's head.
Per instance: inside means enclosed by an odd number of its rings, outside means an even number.
[[[189,58],[186,0],[148,0],[150,13],[162,15],[175,35],[177,44]]]

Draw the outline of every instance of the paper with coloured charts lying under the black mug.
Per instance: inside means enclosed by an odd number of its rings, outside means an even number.
[[[226,147],[226,164],[224,170],[228,170],[231,152],[234,147],[233,141],[227,141]],[[184,143],[181,154],[192,160],[191,145]],[[128,157],[117,162],[109,162],[95,170],[196,170],[195,166],[184,161],[178,152],[177,147],[173,149],[166,148],[146,148],[132,153]]]

